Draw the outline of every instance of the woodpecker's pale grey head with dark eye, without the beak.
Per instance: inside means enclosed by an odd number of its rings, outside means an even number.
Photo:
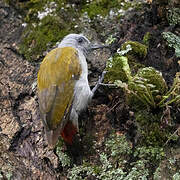
[[[58,47],[73,47],[84,54],[90,49],[90,41],[82,34],[69,34],[64,37]]]

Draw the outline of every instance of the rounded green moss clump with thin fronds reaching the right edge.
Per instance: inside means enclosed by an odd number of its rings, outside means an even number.
[[[152,67],[143,68],[128,82],[126,98],[136,111],[161,109],[180,102],[180,73],[176,73],[173,85],[167,89],[162,73]]]

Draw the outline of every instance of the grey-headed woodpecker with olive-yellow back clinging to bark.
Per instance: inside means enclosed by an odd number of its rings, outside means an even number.
[[[49,146],[54,147],[60,135],[72,144],[79,131],[78,116],[97,89],[90,89],[86,57],[89,51],[103,47],[81,34],[69,34],[42,61],[38,101]]]

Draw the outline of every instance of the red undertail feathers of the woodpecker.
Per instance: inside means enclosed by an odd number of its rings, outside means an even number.
[[[73,137],[76,133],[77,128],[72,124],[72,122],[68,121],[61,132],[61,136],[67,144],[72,145]]]

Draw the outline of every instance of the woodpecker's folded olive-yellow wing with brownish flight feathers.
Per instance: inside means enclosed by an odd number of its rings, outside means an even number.
[[[81,74],[78,52],[72,47],[56,48],[44,58],[38,72],[38,98],[46,130],[62,129]]]

